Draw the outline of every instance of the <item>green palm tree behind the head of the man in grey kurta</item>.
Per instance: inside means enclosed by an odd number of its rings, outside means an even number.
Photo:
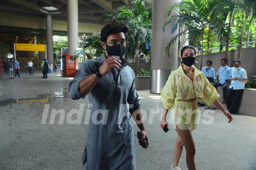
[[[102,21],[109,18],[111,23],[123,23],[129,27],[126,55],[135,57],[135,73],[139,71],[138,56],[140,46],[146,46],[152,40],[152,8],[146,8],[152,1],[132,0],[130,6],[122,6],[113,12],[105,13]]]

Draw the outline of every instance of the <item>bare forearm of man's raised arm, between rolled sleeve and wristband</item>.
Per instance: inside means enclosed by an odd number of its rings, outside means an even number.
[[[100,78],[98,78],[95,74],[92,74],[89,77],[82,79],[79,83],[79,93],[82,95],[87,95],[95,86],[95,84],[99,81],[99,79]]]

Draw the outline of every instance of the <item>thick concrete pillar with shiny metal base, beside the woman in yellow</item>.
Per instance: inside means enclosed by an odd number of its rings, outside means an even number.
[[[178,33],[178,29],[174,34],[171,34],[168,29],[165,29],[165,32],[163,32],[162,22],[165,20],[165,7],[178,1],[153,0],[150,93],[159,94],[171,71],[177,69],[178,41],[170,47],[171,58],[164,55],[164,49],[170,39]]]

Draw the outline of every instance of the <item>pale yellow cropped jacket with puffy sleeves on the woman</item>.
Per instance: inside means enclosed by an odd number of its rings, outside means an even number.
[[[219,99],[216,89],[195,66],[194,81],[188,78],[182,68],[172,71],[164,88],[161,91],[161,101],[165,109],[172,109],[175,100],[203,99],[207,105],[212,105]]]

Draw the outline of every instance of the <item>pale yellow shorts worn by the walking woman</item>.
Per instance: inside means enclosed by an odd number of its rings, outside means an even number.
[[[197,102],[175,101],[171,115],[174,129],[181,130],[195,130],[200,118]]]

